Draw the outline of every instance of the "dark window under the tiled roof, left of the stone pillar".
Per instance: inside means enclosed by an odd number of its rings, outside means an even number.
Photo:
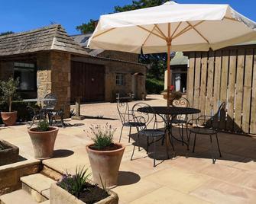
[[[19,91],[36,90],[36,67],[33,63],[15,62],[14,78],[19,79]]]

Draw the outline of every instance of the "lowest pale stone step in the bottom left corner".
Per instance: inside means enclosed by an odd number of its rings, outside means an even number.
[[[38,204],[25,190],[15,190],[0,196],[0,204]],[[50,203],[50,202],[49,202]]]

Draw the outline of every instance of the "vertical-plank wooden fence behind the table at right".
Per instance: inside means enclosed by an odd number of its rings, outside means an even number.
[[[212,115],[226,102],[221,128],[256,134],[256,46],[189,53],[187,98],[200,114]]]

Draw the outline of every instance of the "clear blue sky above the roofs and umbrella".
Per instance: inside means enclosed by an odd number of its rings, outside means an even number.
[[[177,0],[178,3],[229,4],[236,11],[256,21],[255,0]],[[20,32],[44,27],[51,22],[62,24],[70,34],[79,33],[76,25],[98,19],[113,11],[115,5],[131,0],[0,0],[0,33]]]

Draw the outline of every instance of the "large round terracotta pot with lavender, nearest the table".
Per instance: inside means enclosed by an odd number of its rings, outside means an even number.
[[[94,143],[86,146],[93,181],[101,184],[104,180],[109,187],[118,184],[118,171],[125,151],[124,145],[113,142],[114,133],[115,129],[108,123],[104,127],[92,125],[89,134]]]

